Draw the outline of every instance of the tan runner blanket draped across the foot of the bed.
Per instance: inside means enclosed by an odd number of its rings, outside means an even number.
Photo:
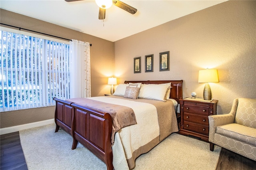
[[[76,103],[83,107],[109,113],[112,117],[112,136],[111,142],[114,144],[114,134],[123,127],[136,124],[134,111],[130,107],[104,103],[87,98],[66,99],[66,101]]]

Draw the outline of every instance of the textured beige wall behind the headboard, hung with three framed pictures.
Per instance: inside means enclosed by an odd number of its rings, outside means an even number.
[[[228,1],[114,42],[115,75],[124,80],[183,79],[183,97],[202,98],[198,71],[218,69],[210,83],[218,114],[233,99],[256,98],[256,1]],[[159,71],[159,53],[170,51],[170,71]],[[145,73],[145,55],[154,54],[154,72]],[[142,73],[133,58],[142,57]]]

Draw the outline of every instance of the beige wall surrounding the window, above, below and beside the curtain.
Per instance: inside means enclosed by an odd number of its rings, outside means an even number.
[[[75,39],[92,43],[92,47],[90,48],[92,65],[92,96],[100,96],[109,93],[110,85],[106,85],[108,82],[106,77],[113,75],[113,42],[3,9],[0,10],[0,20],[1,23],[4,24],[26,28],[28,30],[42,32],[66,39]],[[44,107],[38,109],[2,112],[0,113],[0,128],[53,119],[54,109],[54,107]]]

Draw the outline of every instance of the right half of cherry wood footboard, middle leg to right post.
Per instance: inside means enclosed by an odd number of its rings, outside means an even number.
[[[103,113],[86,108],[75,103],[72,117],[72,149],[78,142],[83,144],[98,158],[106,163],[108,170],[113,167],[111,146],[112,118],[109,113]]]

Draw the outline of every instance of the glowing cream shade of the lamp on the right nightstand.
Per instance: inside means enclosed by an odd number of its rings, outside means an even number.
[[[199,70],[198,83],[219,82],[217,69]]]

